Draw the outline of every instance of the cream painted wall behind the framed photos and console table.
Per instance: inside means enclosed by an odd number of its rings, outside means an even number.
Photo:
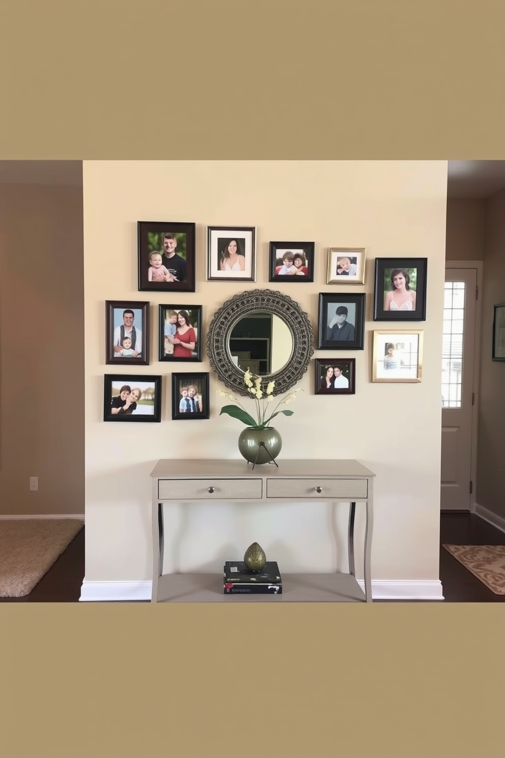
[[[163,293],[137,290],[136,223],[197,223],[197,287],[178,296],[203,305],[204,331],[235,292],[269,287],[269,240],[314,240],[313,283],[284,285],[317,324],[318,293],[326,285],[329,246],[366,246],[366,339],[357,360],[355,396],[313,394],[313,365],[299,386],[295,415],[277,424],[279,458],[357,458],[376,471],[373,578],[437,580],[440,507],[440,365],[446,222],[446,161],[85,161],[84,246],[86,312],[86,581],[140,581],[151,575],[151,480],[159,458],[236,458],[242,424],[220,417],[223,389],[210,374],[208,421],[170,420],[170,365],[156,356],[157,304]],[[255,283],[205,281],[206,226],[256,225]],[[420,384],[373,384],[373,270],[376,256],[427,256],[428,320]],[[279,285],[276,284],[275,288]],[[342,291],[342,290],[341,290]],[[345,291],[345,290],[343,290]],[[104,301],[149,299],[151,365],[138,374],[163,375],[161,424],[102,421]],[[396,328],[399,327],[397,324]],[[344,357],[345,352],[338,353]],[[332,352],[316,351],[329,357]],[[182,364],[176,366],[184,370]],[[206,357],[190,368],[208,371]],[[338,534],[326,506],[240,506],[213,503],[173,508],[167,534],[181,540],[170,568],[220,572],[253,540],[283,570],[344,567],[347,509],[338,506]],[[361,513],[357,528],[363,532]],[[331,537],[329,536],[331,534]],[[359,542],[359,540],[358,540]],[[336,543],[336,547],[335,547]],[[359,547],[359,546],[358,546]],[[358,577],[360,576],[358,550]],[[167,567],[168,568],[168,567]]]

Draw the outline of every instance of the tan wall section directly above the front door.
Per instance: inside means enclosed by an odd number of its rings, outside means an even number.
[[[484,258],[485,201],[447,199],[447,261],[482,261]]]

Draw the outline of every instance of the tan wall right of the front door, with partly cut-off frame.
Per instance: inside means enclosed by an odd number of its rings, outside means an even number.
[[[505,518],[505,363],[491,360],[494,305],[505,302],[505,189],[485,203],[482,350],[476,501]]]

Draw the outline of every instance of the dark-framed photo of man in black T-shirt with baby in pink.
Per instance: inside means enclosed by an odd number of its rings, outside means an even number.
[[[195,224],[138,221],[139,290],[195,292]]]

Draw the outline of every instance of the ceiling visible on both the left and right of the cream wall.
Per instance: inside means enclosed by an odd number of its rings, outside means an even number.
[[[0,183],[82,186],[82,161],[0,161]],[[447,196],[485,198],[505,187],[505,161],[448,161]]]

